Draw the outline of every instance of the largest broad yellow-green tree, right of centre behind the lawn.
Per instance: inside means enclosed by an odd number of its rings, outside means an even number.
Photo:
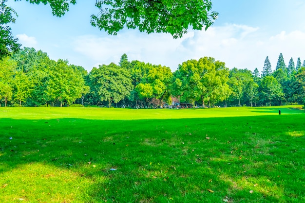
[[[173,92],[182,101],[200,101],[205,107],[205,102],[210,105],[226,99],[228,76],[229,68],[224,62],[211,57],[188,60],[174,73]]]

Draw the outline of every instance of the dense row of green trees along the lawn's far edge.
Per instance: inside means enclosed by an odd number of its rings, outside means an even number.
[[[305,61],[281,53],[274,71],[268,56],[255,68],[226,68],[212,57],[169,67],[129,61],[99,65],[89,73],[67,60],[24,48],[0,60],[1,106],[85,106],[152,108],[179,103],[195,106],[265,106],[305,103]]]

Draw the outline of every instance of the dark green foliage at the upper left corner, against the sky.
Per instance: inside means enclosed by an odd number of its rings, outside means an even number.
[[[6,6],[5,2],[7,0],[0,0],[0,60],[8,55],[11,51],[18,51],[20,49],[20,44],[18,44],[18,39],[14,38],[9,27],[10,23],[15,23],[16,12]]]

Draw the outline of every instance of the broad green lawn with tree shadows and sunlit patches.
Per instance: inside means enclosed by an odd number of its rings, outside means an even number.
[[[0,202],[305,202],[299,107],[0,107]]]

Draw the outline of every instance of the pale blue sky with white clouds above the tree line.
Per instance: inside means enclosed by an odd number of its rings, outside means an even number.
[[[63,17],[54,17],[48,5],[8,0],[18,13],[12,32],[25,47],[47,52],[51,59],[67,59],[90,71],[118,61],[168,66],[172,71],[189,59],[210,56],[228,68],[262,71],[266,56],[275,69],[282,52],[286,65],[292,57],[305,60],[304,0],[212,0],[218,19],[208,31],[190,30],[180,39],[170,34],[123,30],[108,35],[90,24],[97,14],[95,0],[77,0]]]

